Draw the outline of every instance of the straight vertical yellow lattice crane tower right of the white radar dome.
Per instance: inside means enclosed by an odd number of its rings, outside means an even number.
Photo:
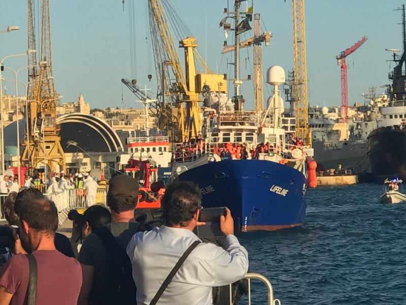
[[[306,31],[304,29],[304,0],[292,0],[292,2],[296,137],[301,137],[304,145],[312,145],[308,124],[308,86],[306,72]]]

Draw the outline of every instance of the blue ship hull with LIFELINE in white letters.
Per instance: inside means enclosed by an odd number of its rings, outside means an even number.
[[[307,181],[298,170],[264,160],[223,160],[189,169],[204,207],[227,206],[242,231],[300,226],[306,214]]]

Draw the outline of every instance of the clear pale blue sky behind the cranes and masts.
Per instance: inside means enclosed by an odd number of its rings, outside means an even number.
[[[228,0],[231,4],[232,1]],[[129,3],[136,10],[137,75],[131,75]],[[209,67],[219,73],[233,72],[226,67],[226,56],[220,53],[224,33],[218,27],[224,17],[226,0],[172,0],[189,30],[199,42],[199,51]],[[148,82],[147,75],[156,78],[153,58],[147,56],[145,43],[148,28],[147,0],[125,0],[124,12],[121,0],[69,0],[50,1],[51,45],[54,82],[62,102],[75,102],[83,94],[92,108],[121,107],[123,92],[124,107],[137,107],[136,99],[121,85],[121,78],[137,77],[138,84],[147,84],[156,89],[154,81]],[[249,0],[251,3],[251,0]],[[389,83],[388,72],[393,63],[386,62],[391,53],[385,48],[402,48],[401,13],[393,11],[404,1],[391,0],[305,0],[307,70],[309,79],[309,101],[311,105],[338,106],[341,104],[340,67],[335,56],[366,35],[368,40],[347,58],[348,100],[352,105],[363,102],[362,93],[375,85]],[[0,34],[0,58],[9,54],[25,52],[27,48],[27,1],[2,0],[0,29],[18,25],[19,31]],[[243,6],[245,4],[243,3]],[[36,8],[37,9],[37,8]],[[269,47],[263,47],[263,68],[280,65],[285,71],[293,67],[292,3],[287,0],[256,0],[254,11],[261,13],[262,30],[271,31],[273,37]],[[38,20],[37,20],[38,22]],[[229,32],[228,42],[231,43]],[[39,45],[40,39],[37,38]],[[177,45],[177,44],[176,44]],[[207,51],[206,51],[207,50]],[[180,50],[182,51],[182,50]],[[241,53],[245,62],[246,50]],[[251,53],[249,54],[252,57]],[[228,55],[229,57],[229,55]],[[183,62],[183,55],[181,54]],[[252,60],[252,59],[251,59]],[[26,66],[26,57],[8,58],[6,67],[17,69]],[[221,63],[221,65],[220,65]],[[242,67],[242,76],[251,74]],[[9,71],[3,77],[13,77]],[[26,81],[26,70],[19,73]],[[14,95],[14,83],[5,82],[8,94]],[[267,85],[268,86],[268,85]],[[270,90],[269,86],[268,89]],[[242,94],[250,100],[252,84],[246,83]],[[268,96],[267,89],[265,100]],[[19,87],[23,95],[23,87]]]

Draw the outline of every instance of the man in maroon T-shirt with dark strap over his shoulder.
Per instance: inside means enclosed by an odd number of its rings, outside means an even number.
[[[45,198],[31,198],[21,203],[16,212],[21,239],[32,250],[32,256],[26,255],[14,232],[16,255],[9,259],[0,278],[0,304],[26,304],[31,278],[37,282],[35,293],[31,294],[36,296],[37,304],[52,304],[55,300],[58,304],[75,304],[82,272],[74,258],[55,249],[54,234],[58,227],[55,204]],[[32,258],[36,267],[31,268],[29,259]]]

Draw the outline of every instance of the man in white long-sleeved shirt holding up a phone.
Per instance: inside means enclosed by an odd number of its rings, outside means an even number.
[[[201,209],[200,189],[191,182],[174,182],[161,199],[164,225],[138,232],[127,246],[132,277],[137,286],[137,304],[148,305],[183,253],[196,240],[192,231]],[[225,248],[199,244],[187,257],[157,304],[209,305],[212,287],[243,278],[248,270],[248,253],[233,235],[230,210],[220,217]]]

